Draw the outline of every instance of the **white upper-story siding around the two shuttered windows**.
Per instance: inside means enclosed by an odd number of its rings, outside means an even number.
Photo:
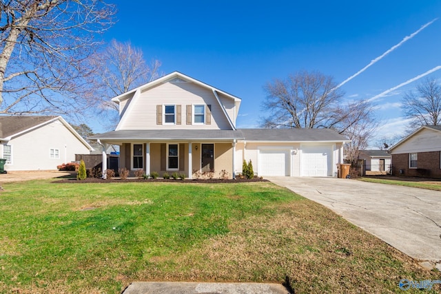
[[[232,129],[213,92],[194,83],[163,83],[142,92],[132,99],[119,129],[164,129],[156,123],[156,105],[182,105],[182,118],[185,122],[185,105],[212,105],[211,124],[167,125],[167,129]],[[234,105],[234,103],[232,103]],[[206,116],[206,114],[205,114]],[[206,119],[206,117],[205,117]]]

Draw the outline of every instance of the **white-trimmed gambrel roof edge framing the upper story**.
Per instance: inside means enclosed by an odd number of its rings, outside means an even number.
[[[234,101],[234,105],[236,106],[236,114],[239,112],[239,107],[240,107],[240,101],[241,99],[233,96],[232,94],[229,94],[225,91],[219,90],[216,87],[213,87],[211,85],[208,85],[206,83],[203,83],[201,81],[196,80],[196,78],[192,78],[190,76],[187,76],[185,74],[182,74],[181,72],[172,72],[171,74],[167,74],[165,76],[161,76],[161,78],[156,78],[156,80],[151,81],[149,83],[146,83],[145,85],[141,85],[140,87],[137,87],[133,90],[130,90],[128,92],[125,92],[119,96],[116,96],[114,98],[112,98],[112,101],[114,103],[119,104],[121,101],[124,101],[127,98],[133,97],[132,98],[132,102],[128,105],[127,110],[123,113],[123,116],[121,117],[121,119],[119,120],[119,124],[116,127],[116,129],[118,130],[121,123],[125,120],[125,118],[127,117],[127,114],[130,114],[130,108],[132,108],[132,105],[134,105],[134,101],[136,101],[139,96],[141,95],[142,91],[148,90],[152,87],[155,87],[156,85],[159,85],[161,83],[166,83],[168,81],[176,81],[176,80],[181,80],[181,81],[188,81],[191,83],[195,83],[196,85],[199,85],[201,87],[204,87],[208,90],[211,90],[213,92],[213,95],[216,98],[216,101],[218,101],[220,108],[223,111],[223,114],[225,115],[225,117],[228,120],[229,125],[231,125],[232,129],[236,129],[236,126],[234,125],[234,123],[232,122],[232,119],[229,117],[229,115],[227,114],[227,109],[225,109],[223,103],[220,102],[220,98],[218,96],[218,93],[223,94],[224,96],[226,96],[229,99],[232,99]]]

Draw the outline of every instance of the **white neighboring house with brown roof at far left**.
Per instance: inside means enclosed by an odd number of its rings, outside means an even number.
[[[6,171],[57,169],[93,148],[61,116],[0,116]]]

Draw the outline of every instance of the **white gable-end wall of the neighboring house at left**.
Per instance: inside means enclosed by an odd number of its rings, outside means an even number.
[[[7,171],[57,169],[57,165],[74,161],[75,154],[90,154],[59,120],[13,137],[8,144],[13,147],[14,158],[12,165],[6,163]],[[59,159],[50,158],[50,149],[59,149]]]

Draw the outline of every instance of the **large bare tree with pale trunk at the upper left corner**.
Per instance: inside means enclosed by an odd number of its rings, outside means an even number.
[[[85,62],[113,23],[102,0],[0,1],[0,114],[81,109]]]

